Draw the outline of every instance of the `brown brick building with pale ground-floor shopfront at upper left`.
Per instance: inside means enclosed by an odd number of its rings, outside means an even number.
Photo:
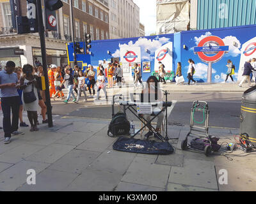
[[[20,1],[20,13],[26,16],[27,1]],[[74,35],[76,41],[83,41],[90,33],[92,40],[109,39],[109,8],[106,0],[73,0]],[[44,5],[44,1],[42,1]],[[44,6],[42,6],[44,15]],[[67,43],[72,41],[72,18],[70,0],[63,0],[63,7],[56,11],[57,31],[45,32],[47,64],[65,66],[68,64]],[[45,23],[45,18],[44,18]],[[15,52],[21,49],[23,52]],[[8,50],[8,52],[5,52]],[[20,54],[21,53],[21,54]],[[8,60],[17,66],[42,62],[40,38],[35,34],[17,34],[12,28],[11,5],[0,0],[0,68]]]

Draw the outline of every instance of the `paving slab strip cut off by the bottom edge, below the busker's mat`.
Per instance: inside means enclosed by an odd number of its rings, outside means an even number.
[[[116,188],[115,191],[135,191],[135,192],[145,192],[145,191],[151,191],[151,192],[157,192],[157,191],[164,191],[164,189],[161,189],[159,187],[152,187],[152,186],[145,186],[140,184],[132,184],[127,182],[120,182]]]

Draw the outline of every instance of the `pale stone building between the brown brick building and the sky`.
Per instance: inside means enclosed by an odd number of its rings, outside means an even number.
[[[110,39],[140,36],[140,8],[132,0],[109,0]]]

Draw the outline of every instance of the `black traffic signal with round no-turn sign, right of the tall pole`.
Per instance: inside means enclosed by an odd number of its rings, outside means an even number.
[[[45,29],[49,31],[57,31],[56,10],[60,9],[62,6],[63,3],[61,0],[44,0]]]

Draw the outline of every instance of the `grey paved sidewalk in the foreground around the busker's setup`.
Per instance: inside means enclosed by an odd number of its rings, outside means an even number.
[[[54,128],[40,125],[38,133],[20,129],[26,135],[14,136],[8,145],[0,134],[0,191],[256,190],[255,155],[206,157],[182,151],[186,126],[168,126],[175,154],[157,156],[113,150],[116,138],[107,136],[107,120],[54,117],[54,121]],[[219,136],[220,143],[234,142],[239,129],[210,133]],[[36,171],[36,185],[26,184],[29,169]],[[218,183],[221,169],[228,171],[228,185]]]

